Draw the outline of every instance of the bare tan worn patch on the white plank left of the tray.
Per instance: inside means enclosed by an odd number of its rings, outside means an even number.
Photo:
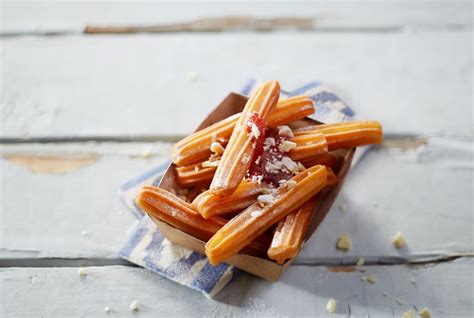
[[[35,174],[61,174],[92,165],[99,156],[9,154],[3,158]]]

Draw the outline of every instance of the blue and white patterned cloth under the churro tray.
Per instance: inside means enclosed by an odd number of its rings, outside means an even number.
[[[256,85],[249,81],[241,90],[248,95]],[[354,112],[333,91],[320,82],[310,82],[292,91],[281,91],[283,97],[308,95],[315,102],[316,112],[311,118],[323,123],[351,119]],[[238,270],[231,265],[211,266],[206,257],[177,246],[166,240],[156,229],[153,221],[135,204],[135,197],[143,185],[157,185],[169,161],[131,179],[120,187],[120,197],[140,219],[132,230],[119,256],[163,275],[179,284],[202,292],[207,297],[217,294]]]

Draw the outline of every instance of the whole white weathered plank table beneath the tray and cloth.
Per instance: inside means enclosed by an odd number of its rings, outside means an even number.
[[[329,298],[341,316],[472,316],[471,1],[1,5],[1,317],[130,316],[134,300],[143,317],[315,317]],[[82,33],[225,16],[292,17],[305,30]],[[209,300],[117,257],[135,222],[117,187],[250,77],[323,80],[386,140],[280,282],[243,274]],[[353,248],[337,251],[346,233]]]

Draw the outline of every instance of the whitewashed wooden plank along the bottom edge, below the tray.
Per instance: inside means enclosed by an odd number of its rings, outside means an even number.
[[[140,268],[90,267],[85,278],[77,268],[2,268],[1,313],[101,316],[109,307],[111,316],[128,316],[129,305],[137,301],[140,317],[194,317],[197,311],[202,317],[321,317],[328,315],[326,304],[334,298],[336,316],[401,317],[414,306],[428,307],[433,317],[472,315],[472,258],[365,269],[291,266],[277,283],[242,274],[212,301]],[[376,275],[375,284],[361,281],[369,274]]]

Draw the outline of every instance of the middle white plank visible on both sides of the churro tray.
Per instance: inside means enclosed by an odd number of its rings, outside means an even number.
[[[369,152],[296,263],[351,264],[359,256],[398,263],[474,253],[471,145],[472,137],[432,137],[412,144],[391,140]],[[3,145],[0,258],[114,259],[134,223],[117,198],[118,185],[157,164],[168,147]],[[156,156],[141,158],[147,149]],[[34,160],[38,156],[43,161]],[[85,158],[95,161],[84,164]],[[339,211],[340,204],[347,212]],[[402,250],[391,243],[398,231],[408,243]],[[353,241],[346,253],[335,248],[342,234]]]

